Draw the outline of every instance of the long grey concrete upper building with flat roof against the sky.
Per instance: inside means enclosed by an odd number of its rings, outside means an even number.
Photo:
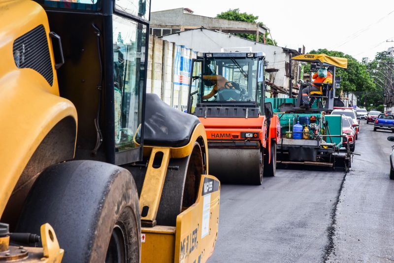
[[[224,33],[255,34],[256,39],[259,39],[259,35],[263,34],[264,42],[265,32],[269,31],[267,27],[259,24],[195,15],[191,9],[183,7],[151,13],[150,32],[155,36],[201,27]]]

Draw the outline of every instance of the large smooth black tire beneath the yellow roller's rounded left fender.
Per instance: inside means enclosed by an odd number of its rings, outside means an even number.
[[[49,223],[63,262],[139,262],[141,223],[130,172],[95,161],[48,167],[29,193],[18,232],[39,234]]]

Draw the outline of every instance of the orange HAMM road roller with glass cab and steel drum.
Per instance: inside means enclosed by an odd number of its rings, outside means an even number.
[[[264,65],[259,52],[193,60],[188,112],[205,127],[210,172],[221,182],[259,185],[275,174],[280,125],[264,102]]]

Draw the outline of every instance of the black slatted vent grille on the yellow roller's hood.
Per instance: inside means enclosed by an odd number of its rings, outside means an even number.
[[[34,69],[52,86],[53,70],[43,25],[15,39],[13,53],[15,65],[18,68]]]

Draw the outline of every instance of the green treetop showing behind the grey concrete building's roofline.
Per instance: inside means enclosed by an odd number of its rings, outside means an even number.
[[[222,12],[222,13],[216,15],[216,18],[241,21],[241,22],[247,22],[247,23],[254,23],[254,24],[259,24],[261,26],[264,26],[263,22],[257,21],[259,19],[259,16],[255,16],[253,14],[248,14],[246,12],[241,13],[241,12],[239,12],[239,8],[229,9],[226,12]],[[256,35],[254,35],[254,34],[242,33],[242,34],[235,34],[235,35],[249,39],[249,40],[256,41]],[[269,32],[265,32],[266,44],[276,46],[277,45],[276,40],[269,38],[268,35],[269,35]],[[264,41],[263,35],[260,34],[259,35],[259,42],[263,42],[263,41]]]

